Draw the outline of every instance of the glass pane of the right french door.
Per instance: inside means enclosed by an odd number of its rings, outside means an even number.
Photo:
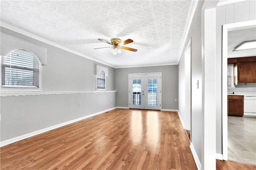
[[[148,106],[157,106],[157,79],[148,78]]]

